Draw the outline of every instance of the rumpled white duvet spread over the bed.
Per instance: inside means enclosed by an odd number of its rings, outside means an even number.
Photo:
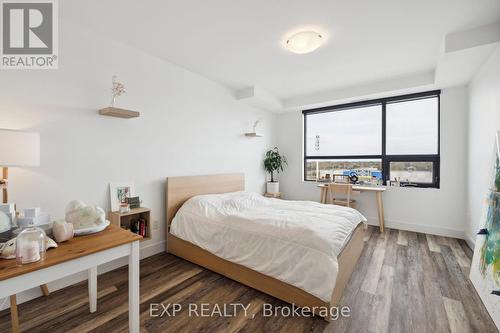
[[[352,208],[234,192],[189,199],[170,233],[329,302],[337,256],[365,221]]]

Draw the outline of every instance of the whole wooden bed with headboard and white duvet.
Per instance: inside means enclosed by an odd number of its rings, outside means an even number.
[[[243,174],[167,178],[167,251],[299,307],[338,305],[363,249],[364,217],[264,198],[244,184]],[[305,217],[311,226],[299,224]]]

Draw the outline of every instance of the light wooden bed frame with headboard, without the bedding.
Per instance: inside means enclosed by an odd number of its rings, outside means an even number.
[[[172,219],[177,210],[189,198],[199,194],[219,194],[243,191],[244,189],[245,176],[240,173],[168,177],[166,183],[167,252],[299,307],[337,306],[363,249],[364,227],[362,224],[356,227],[351,239],[338,256],[339,272],[329,303],[288,283],[219,258],[190,242],[170,234],[169,228]],[[329,318],[325,319],[329,320]]]

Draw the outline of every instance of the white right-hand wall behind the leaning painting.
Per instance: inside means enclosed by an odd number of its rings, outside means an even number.
[[[500,131],[500,47],[469,84],[468,210],[466,237],[473,244],[491,182],[495,134]]]

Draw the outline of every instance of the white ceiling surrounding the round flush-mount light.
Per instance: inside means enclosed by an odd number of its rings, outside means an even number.
[[[422,75],[449,33],[500,21],[499,0],[70,0],[62,16],[238,91],[278,100]],[[320,32],[294,54],[284,40]]]

